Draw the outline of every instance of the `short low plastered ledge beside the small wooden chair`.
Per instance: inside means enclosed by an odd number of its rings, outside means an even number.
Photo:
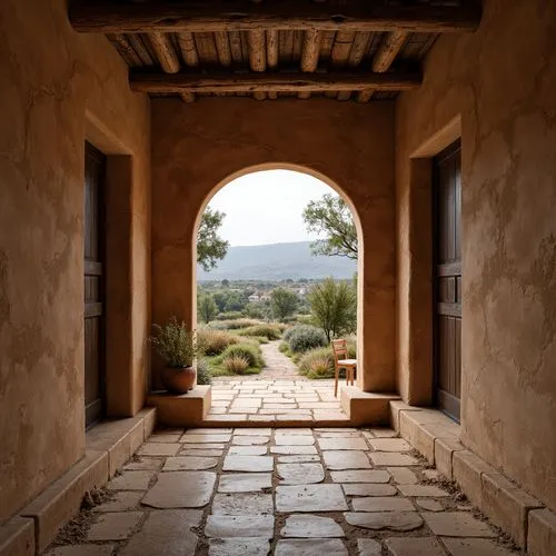
[[[390,403],[398,400],[397,394],[374,394],[363,391],[357,386],[345,386],[341,389],[341,407],[348,416],[350,426],[387,425],[389,423]],[[320,420],[319,420],[319,426]]]

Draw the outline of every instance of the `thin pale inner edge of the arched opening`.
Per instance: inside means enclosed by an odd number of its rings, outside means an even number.
[[[220,191],[220,189],[224,189],[228,183],[231,183],[234,180],[240,178],[241,176],[247,176],[249,173],[256,173],[265,170],[291,170],[298,173],[306,173],[309,176],[312,176],[314,178],[318,179],[319,181],[322,181],[326,183],[330,189],[336,191],[348,205],[351,216],[354,217],[355,226],[357,229],[357,248],[358,248],[358,258],[357,258],[357,359],[363,361],[364,360],[364,350],[365,346],[364,342],[359,340],[359,338],[363,338],[360,336],[363,334],[363,299],[364,299],[364,240],[363,240],[363,232],[361,232],[361,224],[359,220],[359,216],[357,215],[357,210],[351,202],[351,199],[344,192],[344,190],[331,179],[328,177],[324,176],[321,172],[318,172],[316,170],[312,170],[311,168],[307,168],[305,166],[300,165],[294,165],[294,163],[287,163],[287,162],[268,162],[268,163],[262,163],[262,165],[257,165],[252,166],[249,168],[244,168],[242,170],[239,170],[230,176],[227,176],[222,180],[220,180],[211,191],[207,193],[205,197],[205,200],[199,209],[199,212],[197,214],[197,218],[195,221],[195,227],[193,227],[193,234],[191,237],[191,266],[193,269],[192,274],[192,281],[191,281],[191,315],[190,315],[190,321],[191,321],[191,327],[197,328],[197,232],[199,230],[200,221],[201,221],[201,216],[205,209],[207,208],[208,203],[215,197],[215,195]],[[363,379],[360,378],[363,376],[363,373],[358,374],[357,383],[358,386],[361,387],[363,385]]]

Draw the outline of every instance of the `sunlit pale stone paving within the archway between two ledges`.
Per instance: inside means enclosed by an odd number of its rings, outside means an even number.
[[[212,383],[212,404],[207,421],[270,425],[289,421],[308,426],[349,424],[340,406],[340,389],[338,397],[334,397],[334,380],[237,377],[219,378]]]

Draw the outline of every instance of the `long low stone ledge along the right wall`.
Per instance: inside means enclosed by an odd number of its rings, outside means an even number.
[[[556,515],[459,441],[459,425],[437,409],[390,403],[393,427],[455,480],[493,523],[535,556],[556,554]]]

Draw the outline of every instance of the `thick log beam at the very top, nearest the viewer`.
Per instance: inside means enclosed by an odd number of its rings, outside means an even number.
[[[87,0],[71,4],[75,30],[101,33],[249,31],[260,29],[317,29],[320,31],[475,31],[480,4],[378,4],[368,0],[183,0],[175,2],[112,2]]]

